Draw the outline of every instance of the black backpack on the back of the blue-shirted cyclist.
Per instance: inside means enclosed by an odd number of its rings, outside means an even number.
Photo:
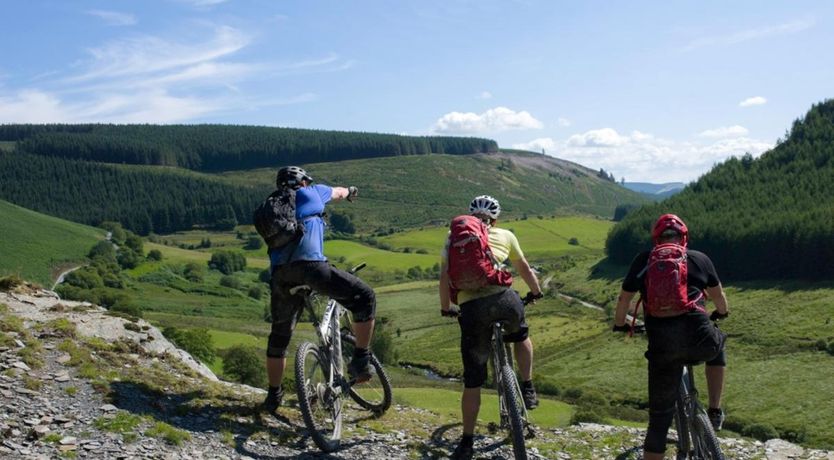
[[[282,187],[255,209],[255,230],[269,249],[280,249],[304,236],[304,226],[295,218],[295,189]]]

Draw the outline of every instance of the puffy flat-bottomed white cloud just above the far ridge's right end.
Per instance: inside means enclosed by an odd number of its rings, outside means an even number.
[[[542,122],[529,112],[496,107],[484,113],[450,112],[440,117],[431,131],[443,134],[487,134],[510,129],[541,129]]]

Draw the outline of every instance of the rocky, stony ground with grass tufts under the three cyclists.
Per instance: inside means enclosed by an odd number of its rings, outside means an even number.
[[[349,404],[343,448],[323,454],[294,398],[261,413],[262,390],[218,381],[145,321],[47,291],[0,292],[0,331],[0,458],[433,459],[460,436],[455,420],[430,411],[395,404],[376,418]],[[476,458],[512,458],[503,433],[482,432]],[[636,459],[643,434],[539,429],[530,457]],[[733,459],[834,459],[781,440],[721,442]]]

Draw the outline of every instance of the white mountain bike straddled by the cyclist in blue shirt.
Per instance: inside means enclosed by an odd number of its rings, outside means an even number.
[[[365,267],[357,265],[349,273]],[[350,319],[339,302],[329,299],[319,318],[315,311],[315,293],[307,285],[291,288],[290,294],[304,297],[304,310],[313,318],[318,344],[303,342],[295,355],[295,381],[298,406],[310,437],[324,452],[341,445],[342,409],[345,394],[359,406],[380,415],[391,406],[391,381],[382,363],[372,353],[370,365],[374,376],[357,383],[344,372],[344,362],[356,345]],[[340,327],[344,320],[345,326]]]

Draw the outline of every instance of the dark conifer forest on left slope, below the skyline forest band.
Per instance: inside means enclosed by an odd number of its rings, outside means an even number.
[[[140,235],[251,223],[269,193],[161,168],[0,152],[0,197],[62,219],[120,222]]]

